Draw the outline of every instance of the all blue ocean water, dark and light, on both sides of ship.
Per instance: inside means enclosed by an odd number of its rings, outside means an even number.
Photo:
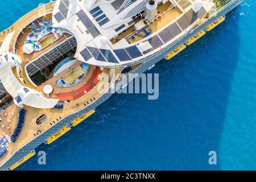
[[[0,29],[40,2],[1,2]],[[256,169],[256,2],[245,0],[226,21],[172,61],[160,61],[159,99],[114,94],[96,114],[18,170]],[[217,165],[208,152],[217,152]]]

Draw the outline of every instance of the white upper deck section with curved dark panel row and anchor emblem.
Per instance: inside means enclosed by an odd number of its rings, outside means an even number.
[[[129,1],[129,0],[126,0]],[[195,12],[194,1],[159,0],[152,19],[146,19],[148,1],[56,1],[53,25],[76,36],[76,58],[105,67],[132,64],[154,54],[178,36],[200,24],[214,3],[203,1]],[[122,9],[122,11],[121,11]],[[121,12],[121,13],[120,13]]]

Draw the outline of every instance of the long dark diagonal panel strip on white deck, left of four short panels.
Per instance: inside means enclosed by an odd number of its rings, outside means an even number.
[[[93,36],[93,38],[96,38],[98,35],[100,35],[98,29],[94,26],[93,22],[89,19],[89,17],[84,13],[83,10],[77,12],[76,15],[80,19],[82,24],[84,24],[86,29],[89,31],[90,35]]]

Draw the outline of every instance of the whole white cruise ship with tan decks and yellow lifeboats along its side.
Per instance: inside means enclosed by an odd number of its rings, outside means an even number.
[[[57,0],[22,16],[0,34],[0,170],[79,127],[121,75],[171,61],[242,1]]]

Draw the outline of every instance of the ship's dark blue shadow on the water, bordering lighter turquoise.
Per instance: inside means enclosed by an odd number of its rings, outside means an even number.
[[[170,61],[159,73],[159,99],[114,94],[96,113],[51,146],[47,165],[34,156],[19,169],[221,169],[218,154],[230,82],[238,61],[240,7],[226,21]],[[230,54],[230,52],[232,54]]]

